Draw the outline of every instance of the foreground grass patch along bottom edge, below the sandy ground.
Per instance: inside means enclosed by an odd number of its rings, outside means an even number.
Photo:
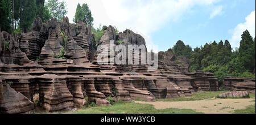
[[[90,107],[75,114],[199,114],[192,109],[155,109],[153,105],[119,101],[112,106]]]

